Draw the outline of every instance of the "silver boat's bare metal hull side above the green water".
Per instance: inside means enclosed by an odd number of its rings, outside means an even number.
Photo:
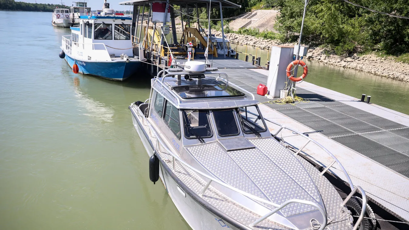
[[[132,121],[137,131],[148,156],[153,155],[153,143],[150,141],[148,134],[142,128],[142,124],[139,119],[135,118],[135,115],[132,114]],[[146,163],[148,163],[148,157],[146,158]],[[226,228],[231,228],[238,230],[235,226],[229,224],[227,221],[221,219],[209,209],[204,208],[198,201],[196,201],[186,190],[183,189],[182,185],[179,185],[177,181],[180,181],[174,174],[171,172],[169,167],[160,159],[160,171],[159,176],[164,184],[169,197],[171,197],[176,208],[179,210],[182,217],[189,224],[193,230],[223,230]],[[210,205],[209,205],[210,206]],[[209,207],[207,206],[207,207]]]

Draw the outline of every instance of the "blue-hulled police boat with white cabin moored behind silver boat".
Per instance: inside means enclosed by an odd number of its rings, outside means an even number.
[[[100,16],[80,16],[79,22],[61,41],[60,58],[73,71],[122,81],[139,69],[141,62],[133,55],[131,42],[132,18],[105,8]]]

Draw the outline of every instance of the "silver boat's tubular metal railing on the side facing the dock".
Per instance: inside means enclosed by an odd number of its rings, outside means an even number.
[[[357,228],[359,227],[360,223],[361,223],[362,220],[364,219],[364,215],[365,215],[365,212],[366,212],[366,203],[367,203],[366,193],[365,193],[365,191],[361,188],[361,186],[354,186],[354,185],[353,185],[351,178],[349,177],[348,173],[346,172],[344,166],[342,166],[341,162],[339,162],[338,159],[337,159],[329,150],[327,150],[324,146],[322,146],[320,143],[318,143],[318,142],[315,141],[314,139],[310,138],[309,136],[306,136],[306,135],[303,134],[302,132],[299,132],[298,130],[294,130],[294,129],[290,128],[290,127],[286,127],[285,125],[281,125],[280,123],[275,122],[275,121],[271,121],[271,120],[269,120],[269,119],[267,119],[267,118],[264,118],[264,120],[269,121],[269,122],[271,122],[271,123],[273,123],[273,124],[275,124],[275,125],[280,126],[279,130],[277,130],[276,133],[275,133],[274,135],[272,135],[273,137],[276,137],[276,136],[281,132],[281,130],[286,129],[286,130],[290,130],[290,131],[292,131],[292,132],[294,132],[294,133],[297,133],[297,134],[299,134],[300,136],[302,136],[302,137],[304,137],[304,138],[307,139],[306,143],[304,143],[304,145],[297,150],[296,154],[299,154],[299,153],[303,150],[303,148],[305,148],[305,147],[308,145],[308,143],[312,142],[312,143],[316,144],[318,147],[320,147],[322,150],[324,150],[329,156],[331,156],[331,157],[333,158],[333,162],[331,162],[327,167],[324,168],[324,170],[321,172],[321,175],[324,175],[324,173],[325,173],[334,163],[337,163],[337,165],[341,168],[342,172],[344,173],[344,175],[345,175],[345,177],[346,177],[346,179],[347,179],[347,181],[348,181],[348,183],[349,183],[349,187],[350,187],[351,190],[352,190],[351,193],[348,195],[348,197],[344,200],[344,203],[342,203],[341,207],[344,206],[349,199],[351,199],[352,195],[355,194],[355,192],[356,192],[357,190],[360,191],[360,193],[361,193],[361,195],[362,195],[362,211],[361,211],[360,217],[359,217],[358,220],[357,220],[357,223],[355,223],[355,226],[354,226],[354,228],[353,228],[353,230],[357,230]]]

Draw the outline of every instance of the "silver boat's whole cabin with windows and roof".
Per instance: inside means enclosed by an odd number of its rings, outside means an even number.
[[[228,79],[226,74],[173,71],[165,70],[163,78],[153,79],[148,117],[161,127],[176,152],[182,146],[214,141],[223,142],[227,151],[245,149],[249,147],[245,138],[271,137],[258,101],[223,79]],[[232,144],[232,138],[238,143]]]

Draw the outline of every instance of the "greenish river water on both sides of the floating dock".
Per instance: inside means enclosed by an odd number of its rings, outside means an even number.
[[[119,83],[73,74],[58,58],[69,29],[51,13],[0,11],[0,229],[190,229],[148,157],[128,105],[146,74]],[[409,113],[409,84],[308,63],[308,80]],[[382,99],[384,98],[384,99]]]

